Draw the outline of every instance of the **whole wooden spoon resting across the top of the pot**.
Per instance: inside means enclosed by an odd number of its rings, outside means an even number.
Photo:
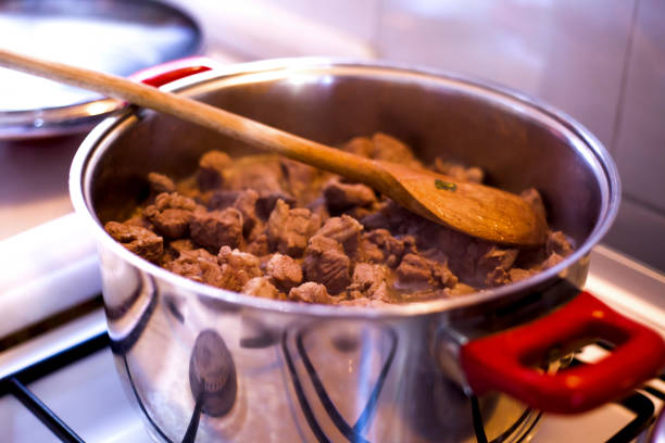
[[[263,150],[361,181],[423,217],[482,240],[535,246],[542,244],[547,237],[547,224],[542,217],[518,195],[500,189],[353,155],[114,75],[1,49],[0,65],[198,123]]]

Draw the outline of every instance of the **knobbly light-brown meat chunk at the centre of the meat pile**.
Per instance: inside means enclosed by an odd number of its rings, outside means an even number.
[[[273,251],[298,257],[319,227],[319,218],[310,210],[291,210],[284,200],[278,200],[268,218],[266,233]]]

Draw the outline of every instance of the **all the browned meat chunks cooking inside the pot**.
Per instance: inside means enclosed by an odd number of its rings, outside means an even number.
[[[386,134],[340,149],[424,167]],[[434,170],[481,182],[446,159]],[[150,195],[106,231],[129,251],[186,278],[301,303],[380,306],[464,296],[522,281],[573,253],[561,231],[542,248],[492,244],[424,219],[365,185],[274,155],[204,154],[185,180],[150,173]],[[537,190],[522,193],[545,217]]]

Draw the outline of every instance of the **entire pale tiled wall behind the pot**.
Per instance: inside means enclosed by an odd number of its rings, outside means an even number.
[[[489,79],[563,110],[619,167],[624,204],[605,242],[665,270],[662,0],[173,1],[214,45],[252,58],[379,58]]]

